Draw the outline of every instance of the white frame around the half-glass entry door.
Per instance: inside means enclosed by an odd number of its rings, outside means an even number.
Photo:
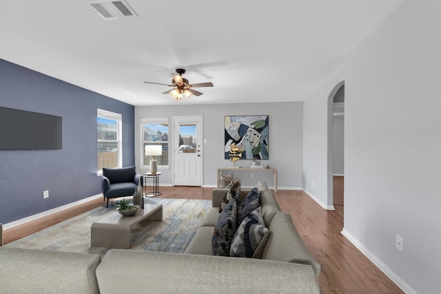
[[[201,169],[201,177],[200,177],[200,186],[203,187],[203,178],[204,178],[204,152],[203,152],[203,116],[172,116],[172,124],[173,124],[173,186],[175,186],[175,179],[176,179],[176,157],[178,153],[178,147],[176,147],[176,143],[179,142],[179,129],[177,129],[176,124],[178,121],[185,120],[185,123],[198,123],[197,128],[197,145],[200,148],[200,154],[201,154],[201,160],[200,160],[200,169]],[[169,145],[170,148],[170,145]],[[197,187],[197,186],[195,186]]]

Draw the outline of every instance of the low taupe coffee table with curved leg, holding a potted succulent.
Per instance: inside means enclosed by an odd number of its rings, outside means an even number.
[[[90,246],[130,249],[132,227],[141,220],[163,220],[162,204],[145,204],[134,216],[121,216],[114,211],[96,220],[90,228]]]

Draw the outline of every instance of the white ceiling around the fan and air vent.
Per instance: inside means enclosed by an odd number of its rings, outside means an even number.
[[[84,0],[0,0],[0,59],[131,105],[303,101],[404,0],[125,0],[103,20]],[[185,68],[204,94],[161,94]]]

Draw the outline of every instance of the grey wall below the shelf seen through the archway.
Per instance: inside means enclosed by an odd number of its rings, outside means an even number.
[[[332,132],[332,162],[333,174],[345,174],[345,116],[334,115]]]

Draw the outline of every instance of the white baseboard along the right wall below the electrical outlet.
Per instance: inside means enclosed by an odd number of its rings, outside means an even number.
[[[343,231],[341,232],[342,235],[344,235],[349,242],[351,242],[354,246],[357,247],[358,250],[361,251],[373,264],[375,264],[380,271],[384,273],[384,275],[387,275],[389,279],[392,280],[404,293],[407,294],[418,294],[411,286],[409,286],[406,282],[404,282],[394,271],[392,271],[386,264],[384,264],[380,258],[378,258],[375,254],[373,254],[369,249],[367,249],[363,244],[358,242],[356,238],[353,237],[348,231],[343,228]]]

